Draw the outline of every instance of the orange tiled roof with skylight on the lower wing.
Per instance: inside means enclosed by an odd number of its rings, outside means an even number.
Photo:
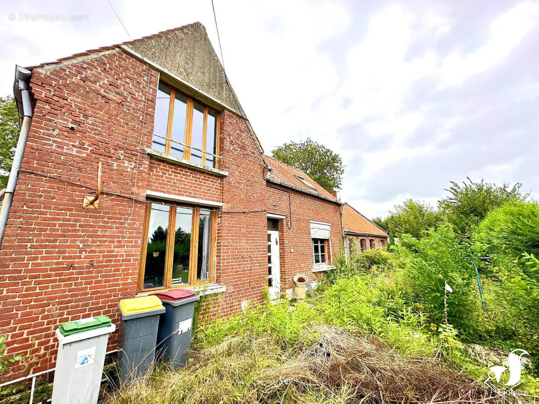
[[[337,198],[323,189],[321,185],[317,184],[305,172],[282,163],[273,157],[264,155],[264,159],[268,167],[271,167],[271,171],[268,170],[266,174],[266,180],[269,182],[289,188],[292,187],[292,189],[295,189],[296,191],[308,193],[315,197],[341,204]],[[302,178],[305,182],[301,180]],[[308,186],[306,183],[312,186]]]

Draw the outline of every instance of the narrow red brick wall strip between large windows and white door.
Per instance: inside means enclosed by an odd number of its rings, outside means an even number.
[[[229,112],[221,116],[220,169],[223,210],[217,226],[217,283],[226,285],[219,315],[237,311],[241,301],[262,301],[267,276],[266,184],[264,162],[245,122]]]

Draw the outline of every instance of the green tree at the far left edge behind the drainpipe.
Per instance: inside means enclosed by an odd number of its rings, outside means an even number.
[[[0,188],[8,184],[19,139],[19,115],[12,96],[0,97]]]

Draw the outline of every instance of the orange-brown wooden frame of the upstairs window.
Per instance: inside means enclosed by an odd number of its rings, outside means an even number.
[[[171,151],[171,145],[172,145],[172,122],[174,122],[174,104],[176,99],[176,93],[182,94],[186,97],[187,103],[186,103],[186,111],[185,111],[185,129],[184,129],[184,143],[183,146],[183,158],[185,160],[191,160],[191,148],[189,145],[192,146],[192,140],[193,140],[193,114],[194,114],[194,106],[195,106],[195,99],[190,97],[189,95],[177,90],[176,88],[168,85],[164,81],[160,81],[160,84],[167,87],[170,90],[170,101],[169,101],[169,111],[168,111],[168,122],[167,122],[167,140],[165,140],[165,154],[170,154]],[[215,128],[215,155],[213,157],[213,165],[214,167],[219,169],[220,165],[220,157],[219,157],[219,138],[220,138],[220,116],[218,110],[210,108],[208,106],[205,106],[202,102],[197,101],[200,105],[204,107],[204,119],[203,119],[203,126],[202,126],[202,160],[201,164],[206,166],[206,155],[208,154],[209,150],[206,150],[206,145],[208,142],[208,113],[210,110],[216,113],[216,128]]]

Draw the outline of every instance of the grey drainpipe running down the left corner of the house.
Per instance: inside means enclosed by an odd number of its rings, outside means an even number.
[[[26,141],[28,140],[28,134],[30,133],[30,125],[32,124],[33,112],[29,90],[31,76],[32,72],[24,67],[15,67],[13,95],[15,96],[15,102],[17,103],[19,112],[20,134],[19,141],[17,142],[17,149],[15,150],[15,157],[13,157],[13,165],[11,166],[11,172],[9,173],[8,186],[6,186],[5,189],[2,211],[0,212],[0,248],[2,248],[5,226],[8,222],[11,201],[13,200],[13,192],[15,192],[15,186],[17,185],[17,177],[19,175],[20,165],[23,161],[24,148],[26,147]]]

